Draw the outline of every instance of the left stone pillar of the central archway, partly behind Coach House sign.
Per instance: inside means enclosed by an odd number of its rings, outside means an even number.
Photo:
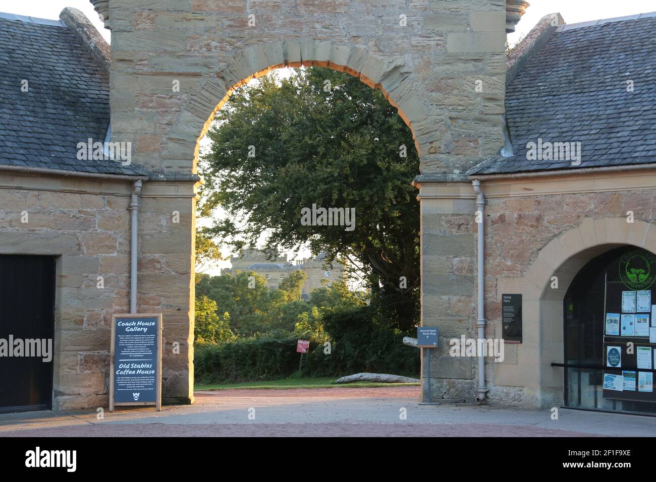
[[[147,182],[139,209],[138,311],[162,313],[162,401],[194,401],[194,181]]]

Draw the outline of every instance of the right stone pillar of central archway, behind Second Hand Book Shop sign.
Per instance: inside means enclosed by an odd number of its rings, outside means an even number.
[[[466,176],[417,176],[421,209],[421,324],[438,327],[431,401],[474,399],[476,363],[449,356],[449,340],[476,338],[476,195]],[[422,353],[422,401],[428,401]]]

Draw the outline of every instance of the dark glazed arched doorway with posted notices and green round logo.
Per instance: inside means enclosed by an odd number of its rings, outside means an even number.
[[[656,414],[655,279],[656,256],[634,246],[575,275],[563,301],[565,407]]]

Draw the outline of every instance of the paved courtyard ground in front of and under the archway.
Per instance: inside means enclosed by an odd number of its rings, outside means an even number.
[[[656,418],[417,403],[417,387],[196,392],[196,403],[154,409],[0,414],[0,437],[22,436],[651,436]],[[417,392],[417,393],[416,393]],[[401,414],[407,418],[403,420]],[[250,418],[249,418],[250,416]]]

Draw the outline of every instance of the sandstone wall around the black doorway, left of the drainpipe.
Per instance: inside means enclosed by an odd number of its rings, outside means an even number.
[[[0,252],[57,256],[54,409],[108,405],[112,313],[129,312],[130,191],[0,174]]]

